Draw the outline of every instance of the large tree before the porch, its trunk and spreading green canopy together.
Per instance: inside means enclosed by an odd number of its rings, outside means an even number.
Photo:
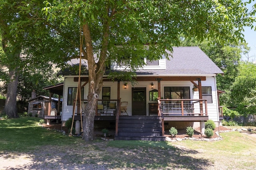
[[[3,8],[6,4],[16,8],[15,13],[8,13]],[[12,35],[30,35],[30,29],[36,29],[38,40],[33,44],[39,45],[27,49],[46,49],[44,59],[48,61],[63,63],[80,52],[87,60],[88,114],[84,116],[83,138],[92,140],[94,94],[100,93],[106,66],[122,61],[136,70],[145,64],[145,56],[150,61],[159,59],[166,49],[172,51],[172,45],[180,45],[181,34],[199,41],[214,38],[222,44],[243,41],[243,27],[253,26],[255,21],[255,10],[248,11],[245,4],[241,0],[46,0],[43,4],[9,0],[1,1],[1,10],[10,14],[10,20],[4,12],[1,18],[6,17],[4,23],[15,28]],[[25,29],[28,25],[31,28]]]

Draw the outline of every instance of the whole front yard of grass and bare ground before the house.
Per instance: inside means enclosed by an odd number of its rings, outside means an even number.
[[[2,169],[255,169],[256,138],[237,131],[221,141],[95,141],[47,130],[39,119],[0,120]],[[254,127],[256,128],[256,127]]]

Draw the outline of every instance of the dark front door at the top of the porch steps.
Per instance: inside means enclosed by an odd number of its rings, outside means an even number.
[[[132,88],[132,115],[147,115],[146,87]]]

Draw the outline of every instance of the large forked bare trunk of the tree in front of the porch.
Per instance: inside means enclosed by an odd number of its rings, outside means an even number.
[[[95,63],[90,29],[87,24],[83,25],[83,33],[89,72],[88,104],[85,109],[86,114],[84,114],[83,118],[83,139],[85,141],[92,141],[94,138],[94,117],[96,106],[98,104],[100,90],[103,86],[103,75],[106,69],[105,59],[107,43],[106,45],[103,45],[105,49],[102,48],[98,63]]]

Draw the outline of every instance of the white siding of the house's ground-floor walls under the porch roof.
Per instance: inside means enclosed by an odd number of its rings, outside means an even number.
[[[82,82],[83,84],[84,82]],[[148,103],[154,103],[149,101],[149,91],[151,89],[152,82],[138,82],[134,87],[146,87],[146,110],[148,115]],[[153,82],[154,89],[158,89],[158,82]],[[64,92],[63,92],[63,106],[62,106],[62,120],[66,121],[69,117],[72,117],[73,106],[67,106],[68,87],[77,87],[78,82],[74,82],[73,77],[65,78],[64,80]],[[117,99],[117,82],[104,82],[103,87],[110,87],[110,99]],[[162,81],[161,82],[161,97],[164,98],[164,87],[166,86],[187,86],[190,87],[190,98],[198,99],[198,92],[192,92],[193,84],[190,81]],[[217,104],[217,90],[215,77],[206,77],[206,81],[202,81],[202,86],[212,87],[212,104],[207,104],[209,119],[218,121],[218,104]],[[128,82],[127,89],[124,89],[124,82],[120,82],[120,98],[121,102],[128,102],[127,113],[131,115],[131,103],[132,103],[132,85]],[[88,84],[84,87],[84,99],[88,96]],[[102,99],[102,92],[100,92],[99,99]]]

